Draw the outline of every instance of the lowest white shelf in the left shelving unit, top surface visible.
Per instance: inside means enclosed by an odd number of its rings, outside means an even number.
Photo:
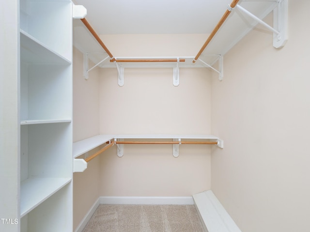
[[[28,178],[20,184],[20,217],[44,202],[71,181],[71,178]]]

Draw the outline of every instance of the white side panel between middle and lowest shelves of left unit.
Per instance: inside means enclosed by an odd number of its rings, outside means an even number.
[[[28,177],[72,178],[71,123],[28,125]]]

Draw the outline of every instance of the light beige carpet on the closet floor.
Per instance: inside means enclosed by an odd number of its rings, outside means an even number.
[[[83,232],[204,232],[194,205],[100,204]]]

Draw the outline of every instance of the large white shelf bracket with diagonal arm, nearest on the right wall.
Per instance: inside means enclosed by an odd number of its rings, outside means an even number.
[[[236,5],[236,8],[256,20],[258,23],[262,24],[265,28],[272,31],[273,36],[273,46],[275,48],[281,48],[287,41],[287,17],[288,17],[288,0],[278,0],[278,6],[273,10],[273,25],[271,27],[265,23],[262,19],[250,13],[248,10]]]

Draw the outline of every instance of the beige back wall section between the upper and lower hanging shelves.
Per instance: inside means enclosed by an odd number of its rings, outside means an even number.
[[[101,134],[209,134],[211,79],[207,69],[125,69],[124,86],[116,69],[102,69]]]

